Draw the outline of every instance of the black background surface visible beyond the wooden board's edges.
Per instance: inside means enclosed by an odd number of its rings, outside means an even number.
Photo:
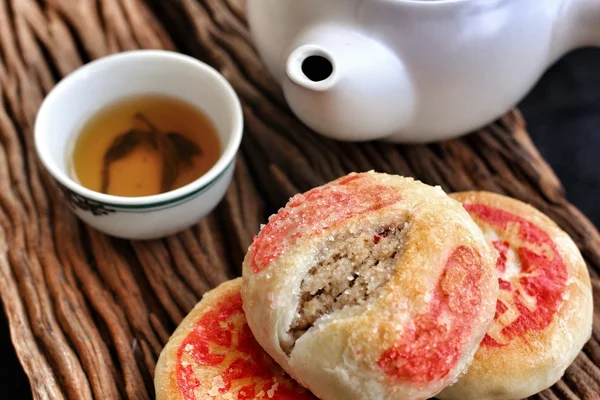
[[[600,50],[584,49],[554,65],[520,104],[528,131],[562,181],[567,198],[600,227]],[[2,290],[0,288],[0,290]],[[0,309],[0,389],[31,398]]]

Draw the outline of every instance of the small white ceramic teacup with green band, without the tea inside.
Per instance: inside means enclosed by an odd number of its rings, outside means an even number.
[[[217,163],[194,182],[154,196],[112,196],[80,185],[70,171],[83,125],[103,107],[146,93],[176,97],[202,110],[221,141]],[[84,222],[120,238],[154,239],[190,227],[221,201],[231,183],[242,131],[240,101],[216,70],[178,53],[138,50],[93,61],[63,79],[39,110],[35,146]]]

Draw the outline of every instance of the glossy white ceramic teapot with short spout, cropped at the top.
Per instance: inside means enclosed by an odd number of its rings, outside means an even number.
[[[600,0],[248,0],[248,18],[293,112],[351,141],[465,134],[600,45]]]

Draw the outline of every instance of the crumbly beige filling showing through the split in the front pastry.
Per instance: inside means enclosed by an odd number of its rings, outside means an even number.
[[[377,296],[398,263],[402,237],[402,229],[388,228],[328,242],[300,286],[289,329],[294,341],[323,315]]]

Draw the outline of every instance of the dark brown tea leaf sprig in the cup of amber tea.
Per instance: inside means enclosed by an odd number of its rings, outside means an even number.
[[[146,125],[147,130],[134,128],[117,136],[104,155],[102,165],[102,193],[108,193],[110,186],[110,166],[127,157],[135,148],[145,143],[158,150],[162,158],[163,172],[161,188],[168,192],[175,183],[181,167],[190,167],[192,159],[202,155],[200,146],[177,132],[162,133],[141,113],[134,115]]]

